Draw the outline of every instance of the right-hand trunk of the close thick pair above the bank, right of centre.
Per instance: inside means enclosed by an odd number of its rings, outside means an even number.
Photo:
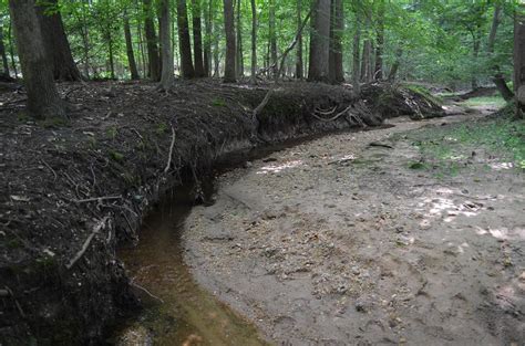
[[[344,30],[342,0],[332,0],[330,21],[329,77],[332,83],[344,82],[342,69],[342,32]]]

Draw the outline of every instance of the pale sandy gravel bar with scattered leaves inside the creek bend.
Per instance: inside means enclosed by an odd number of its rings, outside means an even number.
[[[521,345],[525,124],[476,113],[327,136],[217,179],[197,281],[281,345]]]

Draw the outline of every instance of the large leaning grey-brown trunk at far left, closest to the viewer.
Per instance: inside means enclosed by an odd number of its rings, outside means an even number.
[[[63,117],[65,107],[53,82],[34,0],[10,0],[23,82],[28,93],[28,109],[41,118]]]

